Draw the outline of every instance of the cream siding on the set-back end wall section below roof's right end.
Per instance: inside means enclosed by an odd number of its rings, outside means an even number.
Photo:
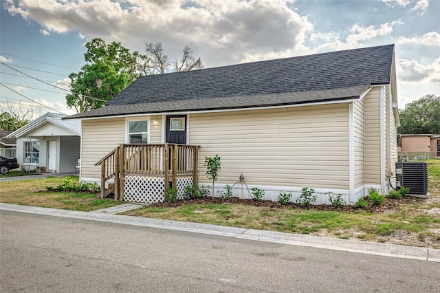
[[[364,97],[364,183],[380,185],[380,87]]]

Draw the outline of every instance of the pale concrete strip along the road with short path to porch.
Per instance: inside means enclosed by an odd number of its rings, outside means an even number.
[[[119,207],[115,206],[112,208],[104,208],[102,210],[95,210],[92,212],[77,212],[74,210],[58,210],[55,208],[38,208],[34,206],[19,206],[15,204],[0,203],[0,210],[11,210],[20,213],[32,213],[54,217],[87,219],[90,221],[104,221],[109,223],[142,226],[148,228],[179,230],[186,232],[203,233],[208,235],[218,235],[223,237],[234,237],[255,241],[282,243],[292,246],[309,246],[330,250],[343,250],[365,254],[377,254],[386,257],[401,257],[406,259],[419,259],[422,261],[440,262],[439,249],[398,246],[386,243],[318,237],[312,235],[290,234],[246,228],[234,228],[210,224],[197,224],[184,221],[170,221],[165,219],[149,219],[144,217],[113,215],[114,213],[120,213],[121,211],[130,210],[133,208],[140,208],[141,206],[142,205],[138,204],[123,204]]]

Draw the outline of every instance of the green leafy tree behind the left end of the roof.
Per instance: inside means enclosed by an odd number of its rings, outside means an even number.
[[[72,73],[70,89],[66,96],[67,106],[78,113],[103,107],[141,74],[146,55],[130,52],[121,43],[107,44],[102,39],[86,43],[86,64],[80,72]]]

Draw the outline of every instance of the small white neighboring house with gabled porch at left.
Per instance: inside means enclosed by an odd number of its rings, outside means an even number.
[[[80,121],[45,113],[6,138],[17,139],[17,160],[22,169],[54,173],[75,172],[80,158]]]

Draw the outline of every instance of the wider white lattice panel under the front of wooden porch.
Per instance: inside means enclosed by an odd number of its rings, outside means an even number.
[[[164,201],[164,177],[125,176],[124,200],[154,204]]]

